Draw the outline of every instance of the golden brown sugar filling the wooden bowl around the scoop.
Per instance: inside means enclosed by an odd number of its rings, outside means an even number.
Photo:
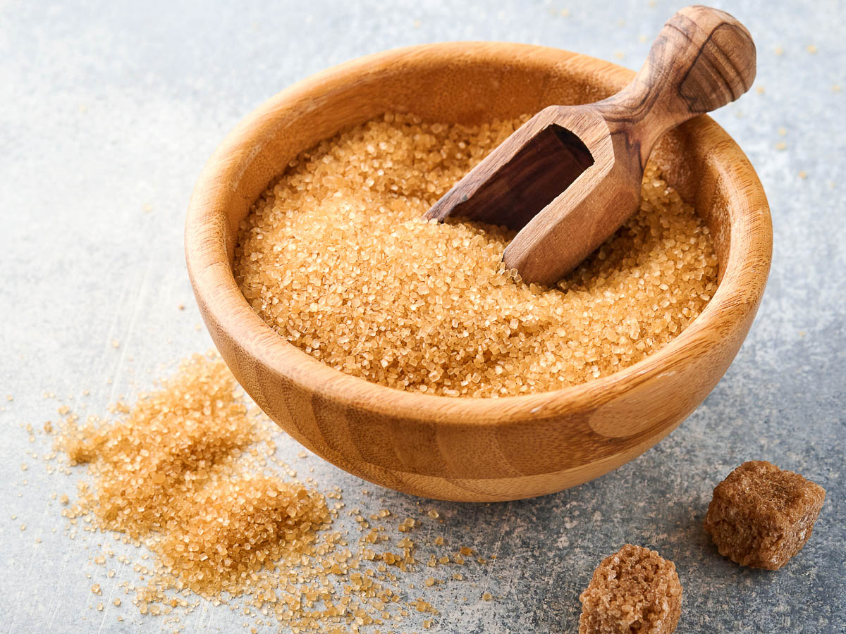
[[[421,219],[523,121],[387,114],[305,152],[241,223],[244,297],[332,368],[427,394],[549,391],[660,349],[716,291],[717,258],[654,165],[640,211],[553,288],[503,268],[513,232]]]

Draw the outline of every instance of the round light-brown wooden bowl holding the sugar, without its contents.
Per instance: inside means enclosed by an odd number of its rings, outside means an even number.
[[[383,112],[481,123],[596,101],[633,73],[540,46],[453,42],[362,57],[283,90],[211,156],[190,201],[188,270],[217,349],[289,435],[376,484],[442,500],[515,500],[581,484],[675,429],[717,385],[749,331],[772,256],[755,170],[711,118],[668,133],[653,156],[715,240],[717,292],[657,353],[598,380],[531,396],[449,398],[330,369],[250,309],[233,278],[239,221],[300,151]]]

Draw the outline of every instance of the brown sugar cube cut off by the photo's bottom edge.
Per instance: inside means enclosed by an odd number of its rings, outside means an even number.
[[[682,584],[672,561],[626,544],[602,560],[579,600],[579,634],[670,634],[682,611]]]

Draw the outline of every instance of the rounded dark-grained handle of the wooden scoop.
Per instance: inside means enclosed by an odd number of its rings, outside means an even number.
[[[669,128],[734,101],[754,80],[755,43],[746,27],[725,11],[695,5],[667,20],[632,83],[596,107],[612,132],[630,128],[645,165]]]

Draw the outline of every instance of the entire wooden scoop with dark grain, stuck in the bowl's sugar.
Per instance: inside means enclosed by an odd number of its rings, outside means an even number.
[[[725,106],[755,79],[755,44],[731,15],[687,7],[667,21],[643,68],[616,95],[550,106],[508,137],[426,213],[519,231],[503,261],[553,284],[638,209],[652,146]]]

